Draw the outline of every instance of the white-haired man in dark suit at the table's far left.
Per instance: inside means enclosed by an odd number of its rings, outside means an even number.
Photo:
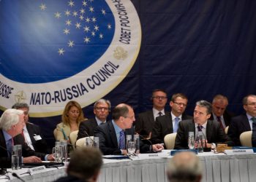
[[[52,155],[37,153],[29,148],[20,133],[24,127],[23,111],[7,109],[0,118],[0,164],[10,167],[12,146],[22,145],[23,163],[54,160]],[[37,156],[37,157],[36,157]],[[40,159],[41,158],[41,159]]]

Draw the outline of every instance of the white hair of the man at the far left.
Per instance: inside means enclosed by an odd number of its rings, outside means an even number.
[[[19,116],[23,114],[23,111],[9,108],[4,111],[0,118],[0,128],[3,130],[10,130],[12,125],[17,124],[19,122]]]

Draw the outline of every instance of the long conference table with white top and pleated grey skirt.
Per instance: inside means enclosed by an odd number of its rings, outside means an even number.
[[[203,165],[203,181],[256,181],[256,155],[203,152],[197,154]],[[106,156],[108,158],[108,156]],[[170,150],[157,154],[139,154],[132,159],[104,159],[99,182],[150,182],[167,181],[167,162],[171,158]],[[23,181],[55,181],[66,175],[66,167],[48,168],[43,173],[29,175],[28,169],[10,170],[17,173]],[[26,174],[23,174],[26,173]],[[20,175],[23,174],[23,175]],[[18,178],[11,180],[0,177],[0,181],[20,181]]]

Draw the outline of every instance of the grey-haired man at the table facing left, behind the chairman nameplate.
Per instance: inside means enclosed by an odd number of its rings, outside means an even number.
[[[181,121],[178,126],[174,149],[189,149],[188,138],[189,132],[194,132],[195,136],[199,131],[203,132],[206,148],[211,148],[211,143],[227,143],[233,146],[224,130],[220,127],[220,123],[208,120],[211,116],[211,103],[206,100],[197,101],[194,110],[194,119]]]

